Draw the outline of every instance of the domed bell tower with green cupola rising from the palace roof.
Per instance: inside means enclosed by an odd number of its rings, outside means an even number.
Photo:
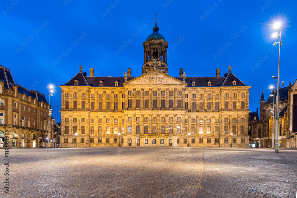
[[[165,37],[159,34],[159,27],[157,26],[157,14],[156,23],[153,27],[153,33],[150,34],[146,41],[143,42],[144,48],[144,63],[142,67],[142,74],[149,72],[153,69],[158,69],[160,72],[168,74],[167,66],[167,48],[168,42]]]

